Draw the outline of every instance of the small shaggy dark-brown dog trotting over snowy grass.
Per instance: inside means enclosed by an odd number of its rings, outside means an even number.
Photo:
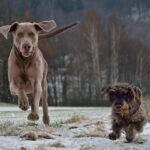
[[[112,103],[113,132],[109,134],[109,138],[118,139],[123,129],[127,142],[132,142],[148,121],[141,90],[136,86],[121,83],[103,87],[102,94],[108,94]]]

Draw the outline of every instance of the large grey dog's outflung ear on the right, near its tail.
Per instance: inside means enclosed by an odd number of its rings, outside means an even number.
[[[34,27],[37,31],[49,32],[56,27],[56,23],[54,20],[42,21],[34,23]]]

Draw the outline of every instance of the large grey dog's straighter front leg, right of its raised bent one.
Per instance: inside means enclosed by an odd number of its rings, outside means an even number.
[[[39,119],[39,103],[42,94],[41,82],[35,80],[32,82],[33,99],[31,101],[31,113],[28,115],[28,120],[36,121]]]

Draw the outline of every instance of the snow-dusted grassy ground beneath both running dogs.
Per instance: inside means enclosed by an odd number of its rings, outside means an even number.
[[[30,110],[29,110],[30,111]],[[140,139],[126,143],[124,132],[111,141],[110,108],[50,107],[51,125],[29,122],[17,106],[0,107],[0,150],[149,150],[150,124]],[[42,110],[40,111],[42,118]],[[139,141],[139,140],[138,140]]]

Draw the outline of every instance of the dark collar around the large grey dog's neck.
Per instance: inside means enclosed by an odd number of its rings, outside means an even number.
[[[35,50],[33,50],[31,56],[23,57],[21,52],[19,51],[19,49],[16,46],[13,46],[13,48],[14,48],[14,51],[15,51],[16,58],[20,61],[23,61],[23,62],[30,61],[35,55]]]

